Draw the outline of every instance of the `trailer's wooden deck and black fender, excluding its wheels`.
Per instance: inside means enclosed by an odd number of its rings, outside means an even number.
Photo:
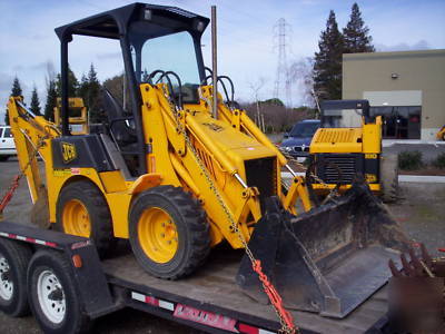
[[[89,239],[53,230],[2,222],[0,243],[3,238],[29,244],[34,253],[49,248],[72,262],[80,256],[82,264],[72,263],[70,273],[91,318],[132,307],[209,333],[273,334],[280,328],[273,307],[255,302],[235,283],[243,250],[217,247],[190,277],[165,281],[138,265],[128,243],[100,261]],[[342,320],[308,312],[291,314],[301,333],[382,333],[386,311],[384,286]]]

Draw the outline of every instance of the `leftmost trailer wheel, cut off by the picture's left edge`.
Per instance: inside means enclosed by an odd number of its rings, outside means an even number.
[[[0,240],[0,311],[9,316],[29,313],[27,267],[32,256],[27,245]]]

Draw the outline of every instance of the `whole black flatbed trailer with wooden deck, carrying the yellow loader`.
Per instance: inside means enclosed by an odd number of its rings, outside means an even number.
[[[85,330],[82,321],[95,320],[123,307],[140,310],[208,333],[278,333],[280,325],[273,307],[249,298],[235,284],[243,252],[215,249],[206,265],[190,277],[164,281],[144,272],[131,252],[122,248],[116,256],[100,261],[95,245],[88,238],[0,223],[0,264],[7,259],[8,273],[11,273],[6,275],[2,267],[1,284],[4,285],[6,279],[11,282],[13,295],[10,299],[17,303],[16,306],[8,306],[0,287],[0,310],[12,316],[23,314],[24,306],[21,305],[23,310],[18,308],[20,303],[23,304],[22,299],[27,302],[28,297],[39,325],[43,332],[50,333],[78,333]],[[51,256],[56,261],[51,261]],[[66,275],[58,272],[60,262],[66,264]],[[59,275],[57,278],[63,288],[66,305],[66,315],[60,323],[56,317],[56,324],[48,324],[44,314],[36,311],[36,303],[42,303],[33,295],[38,286],[33,289],[32,284],[39,282],[33,277],[33,269],[38,267],[36,264],[49,268],[49,272],[53,267],[52,272]],[[53,298],[50,296],[49,302],[52,303]],[[382,333],[386,312],[384,286],[342,320],[308,312],[290,313],[301,333],[335,334]]]

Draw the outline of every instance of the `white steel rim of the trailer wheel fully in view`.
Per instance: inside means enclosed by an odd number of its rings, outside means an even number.
[[[63,287],[52,271],[43,271],[37,279],[37,296],[44,316],[55,324],[63,321],[66,298]]]

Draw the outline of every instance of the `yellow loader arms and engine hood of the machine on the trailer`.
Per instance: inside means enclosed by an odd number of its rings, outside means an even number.
[[[240,248],[243,242],[234,234],[234,223],[248,242],[255,223],[263,216],[266,196],[280,197],[293,212],[298,198],[305,210],[310,209],[310,203],[301,181],[293,183],[287,196],[281,193],[280,170],[287,160],[245,111],[219,102],[221,112],[215,119],[206,102],[211,87],[199,89],[202,98],[198,105],[179,108],[171,104],[166,85],[141,85],[146,143],[152,146],[147,165],[150,173],[162,170],[165,184],[176,183],[201,202],[210,218],[212,245],[225,238],[234,248]],[[250,168],[249,164],[255,163],[263,165]],[[170,169],[174,173],[168,173]],[[251,174],[259,178],[264,174],[269,185],[253,179]]]

